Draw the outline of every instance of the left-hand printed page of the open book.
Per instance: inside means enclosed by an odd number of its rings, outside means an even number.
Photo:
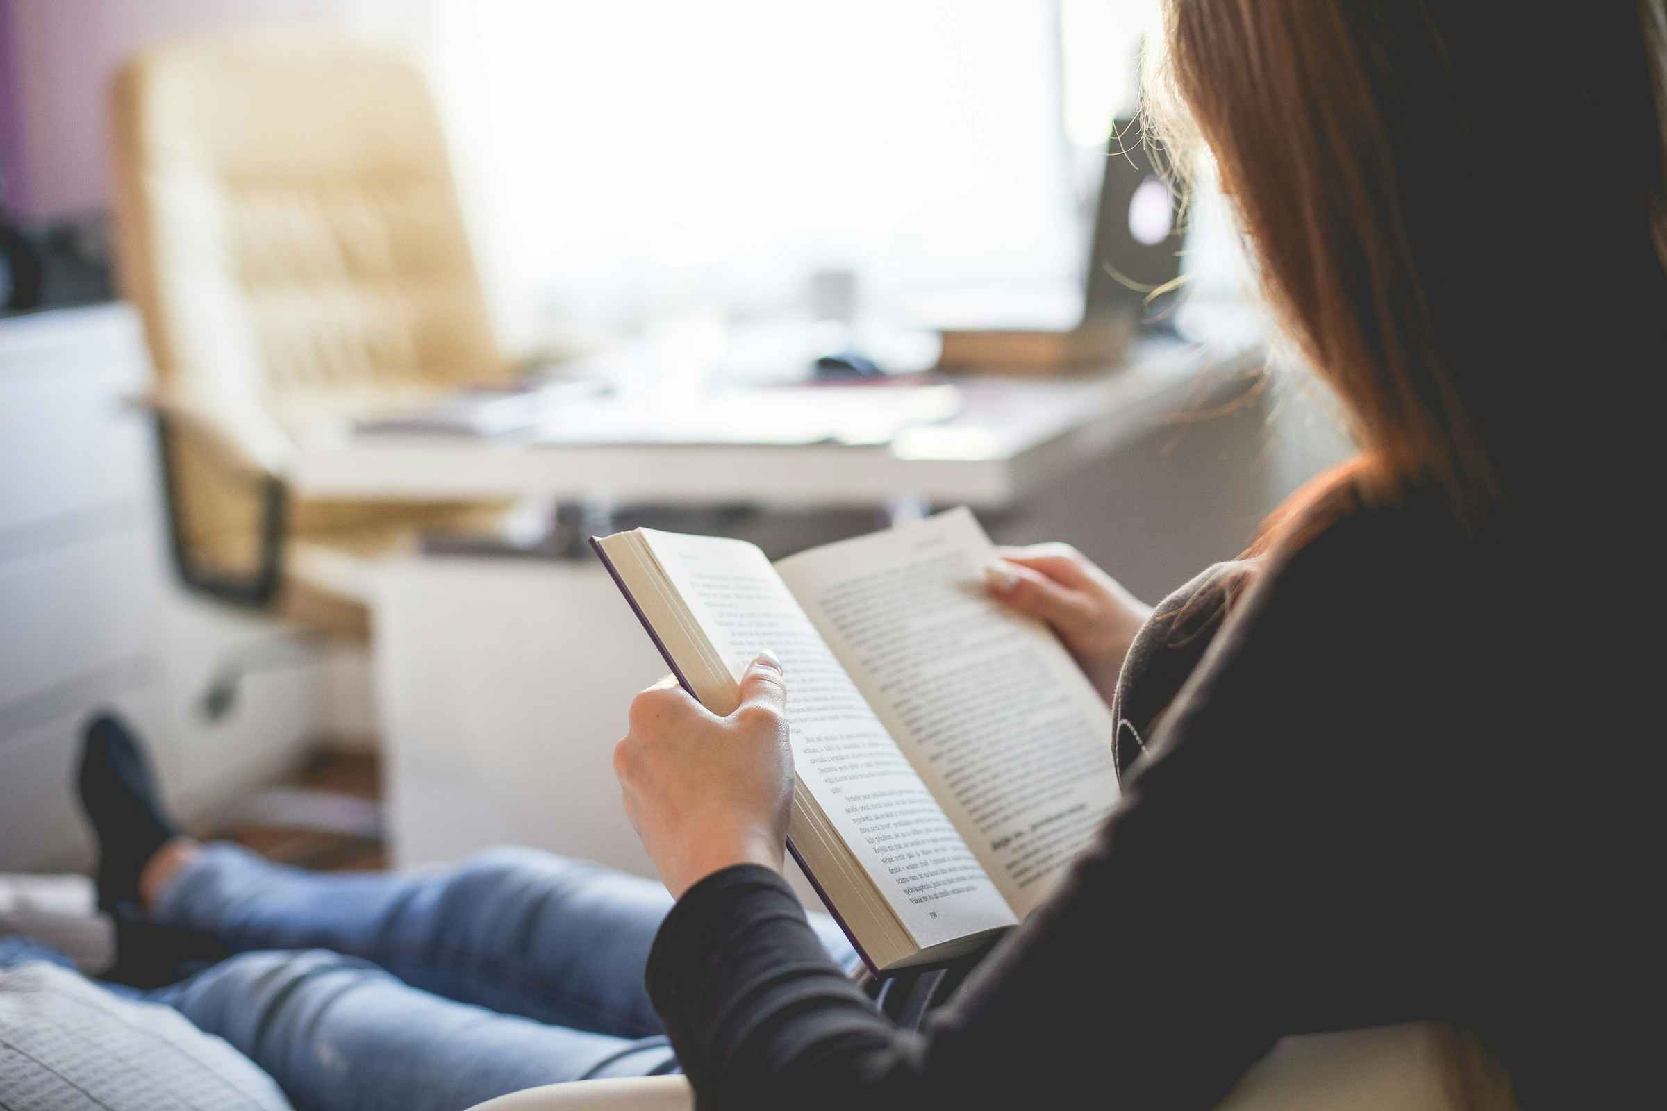
[[[990,876],[763,553],[738,540],[642,535],[733,676],[765,648],[782,660],[793,768],[915,943],[1012,926]]]

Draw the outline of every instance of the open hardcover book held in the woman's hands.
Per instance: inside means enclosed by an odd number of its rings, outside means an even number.
[[[875,973],[1017,924],[1117,801],[1110,711],[1052,631],[985,596],[964,508],[773,566],[652,528],[592,543],[713,713],[758,651],[782,660],[788,849]]]

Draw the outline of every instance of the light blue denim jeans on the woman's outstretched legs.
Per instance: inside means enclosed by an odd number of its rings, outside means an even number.
[[[460,1111],[673,1071],[643,991],[670,906],[658,883],[528,849],[318,874],[210,844],[153,911],[245,953],[143,998],[230,1041],[303,1111]],[[832,919],[812,923],[855,968]]]

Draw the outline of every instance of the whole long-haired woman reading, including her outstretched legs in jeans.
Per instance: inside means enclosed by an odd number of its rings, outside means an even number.
[[[788,720],[825,680],[785,646],[733,713],[673,681],[630,708],[615,765],[675,906],[533,854],[320,878],[202,846],[107,721],[82,795],[127,956],[153,983],[228,958],[150,1001],[252,1063],[175,1031],[190,1053],[90,1043],[78,1074],[158,1091],[195,1063],[282,1106],[258,1064],[305,1106],[462,1108],[680,1064],[703,1106],[1209,1108],[1284,1034],[1437,1021],[1474,1106],[1640,1103],[1622,1016],[1654,1003],[1624,999],[1654,919],[1617,899],[1659,863],[1615,821],[1649,781],[1620,723],[1649,718],[1614,646],[1647,623],[1567,595],[1627,550],[1604,495],[1642,473],[1614,455],[1649,406],[1615,386],[1667,351],[1662,3],[1165,7],[1172,132],[1214,155],[1360,455],[1152,611],[1065,548],[989,568],[1105,696],[1122,785],[1022,924],[854,981],[780,874]],[[1590,127],[1602,165],[1569,150]],[[43,964],[0,944],[0,1043],[38,1034],[17,1001],[150,1006]]]

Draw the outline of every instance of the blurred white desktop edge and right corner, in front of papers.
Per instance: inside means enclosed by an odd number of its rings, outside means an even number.
[[[884,446],[538,445],[318,428],[287,478],[302,496],[328,498],[1004,506],[1169,415],[1207,406],[1254,358],[1164,343],[1104,375],[967,378],[959,416]]]

